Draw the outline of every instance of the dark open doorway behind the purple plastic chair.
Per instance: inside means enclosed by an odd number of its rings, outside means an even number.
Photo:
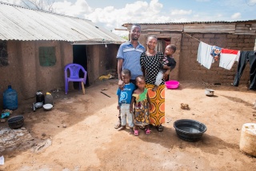
[[[80,64],[87,71],[87,51],[86,45],[74,45],[73,46],[73,63]],[[79,73],[79,77],[83,77],[82,71]],[[79,82],[74,82],[74,89],[79,89]],[[87,74],[86,86],[89,86],[89,78]]]

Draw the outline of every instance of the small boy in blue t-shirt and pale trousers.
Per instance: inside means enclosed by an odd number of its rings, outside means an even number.
[[[134,93],[135,85],[130,82],[130,70],[122,70],[122,82],[124,82],[124,86],[122,89],[118,87],[117,95],[118,95],[118,109],[120,109],[121,113],[121,127],[118,129],[124,130],[126,129],[126,117],[128,121],[128,125],[130,127],[130,133],[134,133],[134,113],[130,113],[130,102],[132,98],[132,94]]]

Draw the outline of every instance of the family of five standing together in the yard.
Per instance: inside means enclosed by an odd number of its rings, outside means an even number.
[[[163,131],[165,122],[165,81],[176,66],[173,54],[176,46],[166,46],[165,55],[156,50],[158,38],[149,36],[146,49],[138,42],[141,26],[130,29],[130,41],[119,47],[118,59],[118,123],[115,128],[126,129],[138,136],[138,129],[150,134],[155,127]]]

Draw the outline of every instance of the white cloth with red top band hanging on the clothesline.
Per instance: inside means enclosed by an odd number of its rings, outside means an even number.
[[[222,49],[219,60],[219,67],[230,70],[235,61],[238,61],[240,55],[239,50]]]

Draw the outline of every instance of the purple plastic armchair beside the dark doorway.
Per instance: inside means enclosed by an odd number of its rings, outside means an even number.
[[[79,78],[80,70],[82,70],[82,72],[84,73],[83,78]],[[65,66],[64,71],[65,71],[65,93],[67,94],[69,82],[81,82],[81,84],[79,84],[79,89],[81,89],[81,85],[82,85],[82,91],[83,91],[83,94],[85,94],[84,84],[86,84],[86,76],[87,76],[86,70],[79,64],[71,63]],[[68,77],[68,72],[70,75],[69,77]]]

